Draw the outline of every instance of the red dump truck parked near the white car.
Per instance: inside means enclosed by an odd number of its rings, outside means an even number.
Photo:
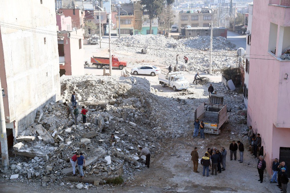
[[[102,67],[109,68],[110,59],[93,56],[93,57],[91,57],[91,63],[93,65],[96,65],[98,69],[101,69]],[[113,68],[119,68],[120,70],[123,70],[123,68],[126,66],[127,66],[127,62],[119,61],[119,59],[117,57],[115,57],[115,55],[112,55],[112,67]]]

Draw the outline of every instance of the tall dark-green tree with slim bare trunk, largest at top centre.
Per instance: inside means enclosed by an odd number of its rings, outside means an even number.
[[[150,19],[149,32],[151,34],[152,29],[152,19],[156,18],[161,14],[164,3],[162,0],[141,0],[141,5],[143,5],[143,11],[146,12]]]

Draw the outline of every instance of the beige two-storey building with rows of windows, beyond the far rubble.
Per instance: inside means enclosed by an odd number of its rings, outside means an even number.
[[[209,27],[211,21],[215,21],[215,11],[212,9],[203,9],[202,11],[192,13],[179,13],[178,26],[191,27]]]

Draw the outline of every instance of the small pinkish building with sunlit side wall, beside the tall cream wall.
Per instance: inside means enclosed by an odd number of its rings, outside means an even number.
[[[57,33],[59,74],[84,75],[83,30]]]

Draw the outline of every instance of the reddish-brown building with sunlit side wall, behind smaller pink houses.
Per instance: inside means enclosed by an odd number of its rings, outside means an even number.
[[[70,16],[72,20],[72,28],[82,28],[84,25],[85,14],[80,9],[69,9],[69,8],[61,8],[59,9],[60,14],[64,14],[65,16]]]

